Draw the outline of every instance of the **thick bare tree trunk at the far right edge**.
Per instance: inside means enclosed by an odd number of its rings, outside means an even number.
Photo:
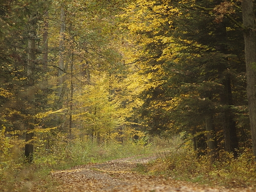
[[[256,156],[256,31],[253,0],[242,0],[245,40],[245,62],[247,72],[247,97],[252,133],[253,151]]]

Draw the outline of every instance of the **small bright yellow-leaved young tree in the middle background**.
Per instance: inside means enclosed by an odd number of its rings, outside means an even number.
[[[76,97],[74,119],[82,124],[82,129],[88,134],[104,136],[123,123],[120,104],[110,100],[108,84],[104,80],[84,86],[83,90]],[[78,124],[77,127],[81,128]]]

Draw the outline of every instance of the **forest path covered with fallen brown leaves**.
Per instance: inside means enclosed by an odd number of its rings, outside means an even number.
[[[105,163],[76,166],[53,172],[60,185],[56,192],[251,192],[249,189],[202,188],[158,176],[145,176],[134,171],[137,163],[151,158],[126,158]]]

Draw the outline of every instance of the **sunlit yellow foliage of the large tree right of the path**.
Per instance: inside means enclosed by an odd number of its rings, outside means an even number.
[[[205,6],[214,7],[214,3]],[[215,11],[231,11],[227,4]],[[139,0],[121,15],[127,19],[121,26],[140,45],[137,57],[141,59],[136,64],[145,81],[141,82],[138,115],[148,130],[200,129],[205,114],[225,108],[220,104],[223,79],[237,72],[227,72],[232,65],[229,61],[237,57],[227,54],[234,47],[229,47],[233,34],[225,42],[220,39],[215,16],[205,14],[210,9],[200,6],[194,1]]]

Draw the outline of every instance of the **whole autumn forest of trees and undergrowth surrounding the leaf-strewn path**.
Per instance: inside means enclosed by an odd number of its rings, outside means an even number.
[[[256,187],[255,5],[1,0],[0,191],[161,150],[168,174]]]

